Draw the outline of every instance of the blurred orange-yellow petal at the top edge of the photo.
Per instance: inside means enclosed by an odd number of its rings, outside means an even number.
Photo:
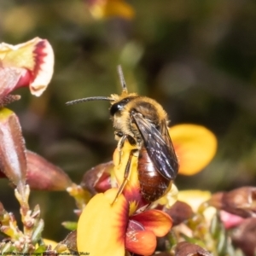
[[[96,19],[119,16],[125,19],[134,17],[134,9],[122,0],[96,1],[90,6],[90,12]]]

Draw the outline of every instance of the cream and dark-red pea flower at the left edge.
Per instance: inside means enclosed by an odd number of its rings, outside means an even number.
[[[9,103],[9,94],[22,86],[29,86],[32,95],[40,96],[49,84],[53,67],[53,49],[45,39],[0,44],[0,105]]]

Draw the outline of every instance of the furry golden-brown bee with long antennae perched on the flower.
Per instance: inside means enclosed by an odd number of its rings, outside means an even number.
[[[87,97],[72,102],[108,101],[113,120],[115,139],[118,141],[119,160],[125,141],[135,149],[131,149],[129,160],[125,166],[124,181],[119,187],[121,194],[127,183],[131,159],[138,157],[137,172],[141,195],[148,202],[158,200],[166,194],[177,176],[178,161],[172,140],[168,132],[166,111],[158,102],[136,93],[128,93],[121,67],[118,67],[119,79],[122,85],[121,95]]]

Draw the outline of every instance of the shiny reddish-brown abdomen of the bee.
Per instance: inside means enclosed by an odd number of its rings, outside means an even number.
[[[145,148],[140,150],[137,169],[141,193],[144,199],[156,201],[166,194],[169,189],[170,180],[160,175]]]

